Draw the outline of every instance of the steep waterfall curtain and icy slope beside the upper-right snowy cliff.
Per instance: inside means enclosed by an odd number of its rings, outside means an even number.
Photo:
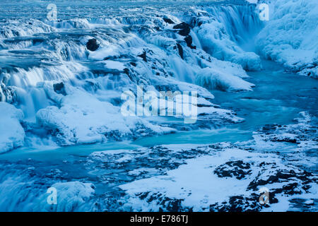
[[[250,42],[262,28],[253,10],[252,6],[227,6],[196,11],[194,31],[203,49],[217,59],[240,64],[245,70],[259,71],[259,56],[240,47],[240,44]],[[247,21],[245,13],[250,15]]]

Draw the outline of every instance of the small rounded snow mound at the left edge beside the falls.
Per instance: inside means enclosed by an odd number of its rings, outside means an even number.
[[[25,132],[20,124],[23,117],[20,109],[6,102],[0,102],[0,153],[24,144]]]

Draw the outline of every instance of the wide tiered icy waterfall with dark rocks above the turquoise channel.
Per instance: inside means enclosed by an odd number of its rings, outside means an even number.
[[[195,89],[201,101],[211,105],[205,88],[252,89],[254,84],[244,81],[244,69],[261,65],[259,57],[242,46],[261,28],[253,6],[216,4],[177,11],[166,6],[123,12],[0,22],[0,59],[7,56],[0,64],[1,100],[23,111],[24,126],[46,129],[62,145],[104,141],[101,134],[118,133],[122,139],[140,126],[145,136],[165,133],[174,129],[119,117],[122,92],[136,92],[136,85],[156,92]],[[86,46],[89,40],[95,40],[95,49]],[[82,105],[78,95],[89,104]],[[95,117],[103,114],[114,115],[95,123]],[[216,114],[223,121],[237,120],[232,112]],[[85,126],[71,124],[75,118],[86,121]],[[110,120],[117,120],[117,126]]]

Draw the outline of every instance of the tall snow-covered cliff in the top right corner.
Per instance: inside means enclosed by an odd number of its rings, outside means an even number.
[[[318,1],[271,1],[270,20],[257,36],[259,52],[304,76],[318,76]]]

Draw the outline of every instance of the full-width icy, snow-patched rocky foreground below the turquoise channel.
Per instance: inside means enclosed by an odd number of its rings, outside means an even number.
[[[263,126],[245,142],[1,159],[0,210],[317,211],[316,120],[301,112],[294,124]],[[47,203],[50,187],[57,205]]]

